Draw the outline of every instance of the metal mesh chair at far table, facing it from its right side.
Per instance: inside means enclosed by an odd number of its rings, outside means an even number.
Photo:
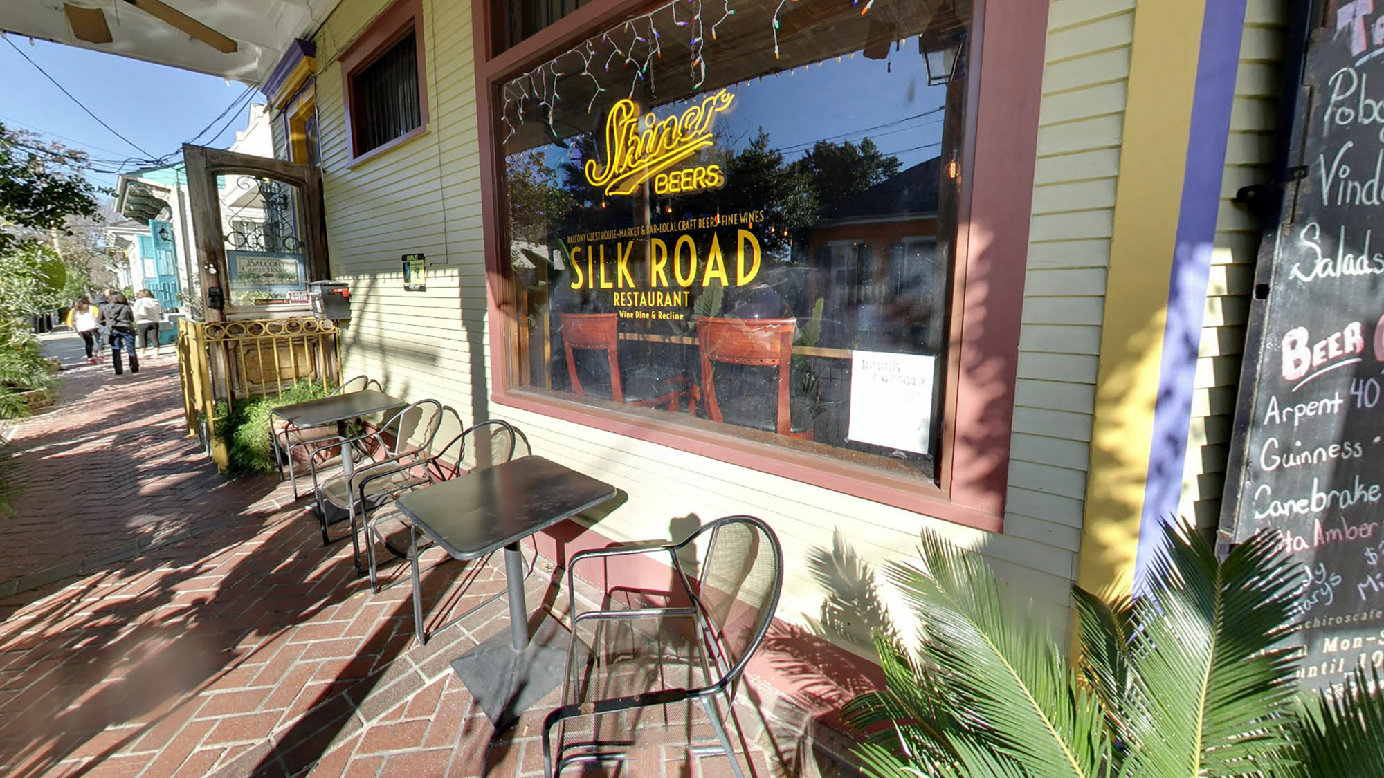
[[[354,449],[367,450],[372,455],[372,460],[353,468],[350,479],[340,472],[318,482],[316,458],[309,460],[322,543],[332,541],[327,530],[328,516],[346,512],[350,519],[350,543],[357,573],[361,572],[357,516],[364,519],[381,504],[428,482],[424,465],[433,458],[430,447],[447,411],[454,417],[457,414],[437,400],[419,400],[396,413],[375,432],[342,440],[340,446],[346,455]],[[329,443],[324,443],[327,444]]]

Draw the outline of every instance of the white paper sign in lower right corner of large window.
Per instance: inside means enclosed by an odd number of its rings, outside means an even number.
[[[936,356],[851,352],[847,437],[926,454],[931,443],[936,375]]]

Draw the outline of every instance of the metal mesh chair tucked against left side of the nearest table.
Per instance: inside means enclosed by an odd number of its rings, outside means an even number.
[[[450,406],[443,408],[443,426],[448,426],[446,424],[447,418],[455,419],[453,429],[461,426],[461,415]],[[397,497],[407,490],[430,486],[441,480],[461,478],[498,465],[500,462],[508,462],[515,455],[519,435],[515,432],[515,428],[509,422],[500,419],[487,419],[462,429],[455,437],[440,446],[435,446],[433,453],[428,458],[418,460],[414,469],[422,476],[422,480],[399,489],[394,496]],[[394,478],[389,468],[371,465],[371,475],[360,479],[360,494],[357,497],[361,501],[374,489],[376,480]],[[375,511],[365,519],[364,526],[370,588],[371,591],[379,591],[375,544],[382,545],[390,555],[417,566],[417,554],[412,554],[411,548],[418,548],[418,540],[411,532],[412,527],[408,525],[408,516],[400,511]],[[443,558],[444,562],[448,559],[451,557]],[[484,565],[484,559],[480,565]]]

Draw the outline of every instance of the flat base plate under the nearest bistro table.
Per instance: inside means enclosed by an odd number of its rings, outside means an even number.
[[[522,651],[515,649],[509,631],[498,633],[454,659],[451,669],[495,731],[502,731],[562,684],[570,640],[567,630],[545,615]],[[584,646],[579,645],[577,653],[574,662],[584,662]]]

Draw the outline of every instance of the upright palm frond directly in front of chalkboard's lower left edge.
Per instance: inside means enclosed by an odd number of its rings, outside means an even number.
[[[1127,706],[1138,777],[1257,775],[1282,763],[1298,653],[1298,573],[1264,533],[1219,562],[1194,532],[1168,527],[1150,592],[1133,608]]]

